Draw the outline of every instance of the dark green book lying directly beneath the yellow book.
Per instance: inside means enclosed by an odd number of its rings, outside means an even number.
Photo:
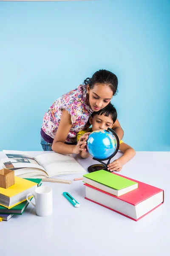
[[[35,183],[38,183],[38,186],[41,186],[41,184],[42,184],[41,183],[42,179],[31,179],[31,178],[25,178],[25,179],[26,180],[31,180]],[[21,215],[25,211],[28,204],[29,204],[28,201],[24,201],[23,203],[18,204],[18,205],[14,206],[11,209],[7,209],[6,207],[3,207],[3,206],[0,205],[0,213]]]

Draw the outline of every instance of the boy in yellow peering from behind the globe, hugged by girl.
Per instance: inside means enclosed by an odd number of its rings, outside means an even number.
[[[98,112],[93,112],[92,115],[89,117],[89,122],[92,125],[92,128],[88,128],[85,131],[79,131],[77,133],[77,141],[79,141],[80,137],[82,135],[89,135],[92,131],[105,129],[107,130],[109,128],[113,128],[114,122],[117,119],[117,111],[113,107],[111,103],[109,103],[105,108],[99,110]],[[88,139],[88,136],[86,137],[86,140]],[[130,159],[132,159],[136,152],[133,148],[131,148],[129,145],[125,144],[122,140],[120,140],[119,150],[122,151],[123,155],[119,157],[119,159],[114,160],[112,163],[108,165],[108,170],[110,172],[116,171],[119,172],[122,170],[122,166],[127,163]],[[86,141],[81,146],[81,148],[84,148],[84,150],[80,153],[81,157],[87,158],[90,156],[86,149]]]

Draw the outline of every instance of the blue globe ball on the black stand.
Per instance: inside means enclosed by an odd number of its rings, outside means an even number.
[[[87,149],[96,159],[110,157],[116,151],[117,140],[108,130],[93,131],[87,140]]]

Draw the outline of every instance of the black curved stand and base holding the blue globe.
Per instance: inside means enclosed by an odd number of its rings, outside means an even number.
[[[105,170],[105,171],[110,172],[108,170],[107,166],[110,163],[111,158],[114,157],[117,154],[118,150],[119,150],[119,138],[118,138],[116,132],[113,131],[111,128],[108,128],[106,131],[110,131],[114,135],[114,137],[116,138],[116,144],[117,144],[116,149],[110,157],[107,157],[105,159],[98,159],[98,158],[93,157],[94,160],[100,162],[101,164],[93,164],[93,165],[89,166],[88,167],[88,172],[96,172],[96,171],[99,171],[99,170]],[[103,161],[105,161],[105,160],[108,160],[108,162],[104,163]]]

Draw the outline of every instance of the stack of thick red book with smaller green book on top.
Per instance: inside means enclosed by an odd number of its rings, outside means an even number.
[[[104,170],[83,175],[86,199],[138,221],[164,202],[164,190]]]

